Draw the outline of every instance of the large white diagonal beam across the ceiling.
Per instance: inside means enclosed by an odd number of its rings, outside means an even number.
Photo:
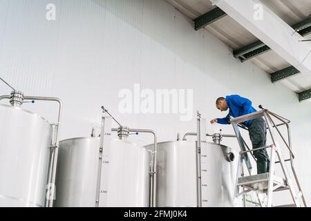
[[[311,75],[311,46],[301,42],[303,37],[294,33],[282,19],[258,0],[211,0],[255,37],[288,61],[303,74]],[[261,6],[263,19],[254,19],[255,6]]]

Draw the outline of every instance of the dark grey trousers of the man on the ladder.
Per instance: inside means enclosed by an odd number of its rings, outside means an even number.
[[[267,126],[263,117],[258,117],[250,122],[248,126],[249,138],[254,148],[267,146]],[[266,149],[254,151],[254,156],[258,161],[264,161],[269,164],[270,159]]]

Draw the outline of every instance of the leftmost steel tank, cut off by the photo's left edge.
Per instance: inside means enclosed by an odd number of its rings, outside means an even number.
[[[0,105],[0,206],[44,206],[51,133],[35,113]]]

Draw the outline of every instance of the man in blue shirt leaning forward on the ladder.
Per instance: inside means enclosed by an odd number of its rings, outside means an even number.
[[[224,118],[211,119],[211,124],[231,124],[230,117],[240,117],[256,112],[255,108],[252,106],[252,102],[239,95],[219,97],[216,100],[216,108],[220,111],[227,111],[229,108],[229,114]],[[249,138],[252,141],[253,148],[266,146],[267,126],[263,117],[258,117],[243,122],[242,124],[248,128]],[[266,149],[254,151],[254,156],[256,157],[257,173],[269,172],[270,159],[267,155]]]

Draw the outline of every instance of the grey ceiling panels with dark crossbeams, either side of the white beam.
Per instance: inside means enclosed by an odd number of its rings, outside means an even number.
[[[281,82],[295,93],[299,101],[311,102],[311,75],[301,75],[274,50],[257,39],[240,23],[209,0],[167,0],[194,21],[194,28],[205,28],[227,44],[241,62],[252,61],[271,76],[272,84]],[[288,23],[304,39],[311,39],[310,0],[261,0],[261,3]],[[309,43],[310,42],[310,43]],[[310,44],[305,41],[303,44]]]

